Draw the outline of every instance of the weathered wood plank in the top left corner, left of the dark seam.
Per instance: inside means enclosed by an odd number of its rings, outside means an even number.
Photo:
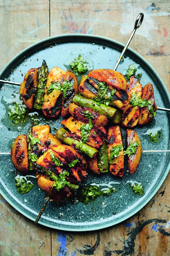
[[[49,1],[1,1],[2,69],[27,46],[49,36]]]

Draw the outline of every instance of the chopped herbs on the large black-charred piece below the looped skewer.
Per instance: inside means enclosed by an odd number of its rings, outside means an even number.
[[[109,90],[109,86],[106,82],[98,82],[98,95],[94,97],[94,100],[98,102],[97,104],[100,105],[105,104],[106,106],[109,105],[111,101],[113,101],[112,96],[116,92],[116,89]]]

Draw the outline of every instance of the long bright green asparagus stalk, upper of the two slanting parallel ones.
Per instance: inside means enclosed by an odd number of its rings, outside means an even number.
[[[86,99],[85,97],[79,96],[77,94],[74,96],[72,101],[79,106],[90,108],[99,114],[108,116],[109,118],[113,118],[116,113],[116,109],[114,108],[105,106],[104,104],[98,105],[96,101]]]

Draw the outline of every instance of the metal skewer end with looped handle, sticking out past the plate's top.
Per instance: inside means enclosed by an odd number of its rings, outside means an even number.
[[[117,67],[118,67],[118,65],[119,65],[119,63],[120,63],[120,61],[121,61],[121,59],[122,59],[124,53],[126,52],[127,47],[128,47],[128,45],[130,44],[130,42],[131,42],[131,40],[132,40],[132,38],[133,38],[133,36],[134,36],[134,33],[136,32],[136,29],[141,26],[142,21],[143,21],[143,17],[144,17],[144,14],[143,14],[143,13],[138,14],[138,17],[136,18],[136,21],[135,21],[135,23],[134,23],[134,29],[133,29],[133,31],[132,31],[132,34],[130,35],[130,37],[129,37],[127,43],[126,43],[126,45],[125,45],[124,48],[123,48],[123,51],[122,51],[122,53],[121,53],[121,55],[120,55],[120,57],[119,57],[117,63],[116,63],[115,66],[114,66],[114,69],[113,69],[114,71],[117,69]]]

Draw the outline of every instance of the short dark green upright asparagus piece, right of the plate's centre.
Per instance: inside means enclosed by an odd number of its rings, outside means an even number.
[[[97,157],[98,160],[98,167],[100,173],[107,173],[108,172],[108,155],[107,155],[107,145],[106,142],[103,142],[103,145],[99,148],[99,154]]]

